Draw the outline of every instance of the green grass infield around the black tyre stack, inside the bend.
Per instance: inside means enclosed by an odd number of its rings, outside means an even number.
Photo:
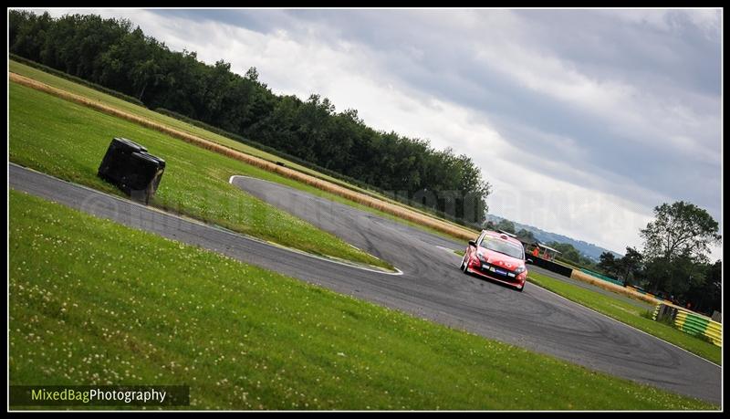
[[[96,172],[111,138],[127,137],[167,162],[154,206],[311,253],[391,267],[228,183],[233,174],[285,182],[274,173],[16,83],[9,113],[11,162],[120,194]]]

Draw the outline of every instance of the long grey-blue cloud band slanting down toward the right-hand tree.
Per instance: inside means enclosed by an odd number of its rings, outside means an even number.
[[[392,63],[394,58],[388,59]],[[650,207],[661,203],[652,202],[652,196],[646,194],[626,196],[625,184],[643,185],[667,196],[686,196],[719,214],[716,199],[718,189],[713,188],[714,184],[696,187],[702,179],[713,179],[719,172],[718,166],[698,165],[684,152],[665,147],[666,141],[662,139],[647,141],[650,139],[627,138],[630,132],[607,126],[600,116],[524,89],[490,68],[479,68],[478,63],[469,59],[453,66],[432,71],[428,69],[429,66],[398,63],[393,68],[400,68],[401,80],[411,84],[414,89],[428,91],[439,98],[482,112],[523,155],[532,154],[539,159],[564,162],[586,173],[597,170],[615,173],[610,178],[615,183],[607,182],[598,186],[606,192],[623,195]],[[523,129],[524,126],[531,130]],[[547,136],[535,135],[530,131],[573,139],[588,158],[584,161],[566,161],[566,155],[569,154],[566,150],[555,147],[547,140]],[[677,177],[675,173],[687,175]],[[587,178],[576,178],[572,172],[550,171],[548,174],[570,183],[597,186],[587,184]],[[485,169],[485,176],[489,176],[488,169]]]

